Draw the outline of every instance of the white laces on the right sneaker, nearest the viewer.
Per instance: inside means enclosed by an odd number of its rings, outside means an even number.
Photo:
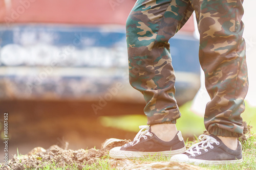
[[[204,150],[205,152],[207,152],[208,147],[210,149],[213,149],[214,146],[211,145],[212,143],[216,143],[217,145],[220,144],[220,142],[218,142],[215,138],[208,135],[200,135],[199,140],[203,140],[203,141],[191,145],[191,147],[188,148],[186,153],[191,154],[192,156],[196,156],[195,153],[200,155],[201,154],[200,150]]]

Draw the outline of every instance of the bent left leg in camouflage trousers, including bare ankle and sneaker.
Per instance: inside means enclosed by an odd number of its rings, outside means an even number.
[[[175,126],[181,114],[174,98],[175,74],[168,40],[192,12],[189,0],[138,0],[127,18],[130,83],[144,96],[144,112],[151,127],[140,131],[133,142],[112,149],[111,157],[173,155],[185,151],[181,132]]]

